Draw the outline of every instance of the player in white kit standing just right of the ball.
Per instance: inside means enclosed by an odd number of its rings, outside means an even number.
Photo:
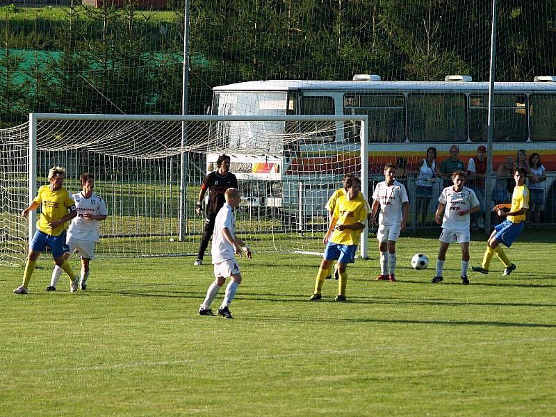
[[[467,269],[469,267],[469,218],[471,213],[480,211],[481,205],[475,192],[471,188],[464,187],[466,173],[463,171],[452,172],[453,186],[442,190],[439,197],[439,206],[436,208],[434,220],[442,224],[440,235],[439,256],[436,259],[436,276],[432,279],[433,284],[443,280],[442,271],[446,252],[452,242],[458,242],[461,246],[461,282],[469,284]],[[444,212],[442,220],[441,213]]]

